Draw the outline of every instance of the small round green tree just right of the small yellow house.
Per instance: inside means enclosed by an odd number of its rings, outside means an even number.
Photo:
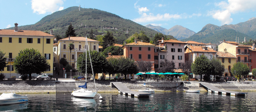
[[[246,64],[241,62],[235,63],[231,68],[231,73],[239,77],[239,82],[240,82],[241,76],[246,76],[249,74],[249,72],[250,72],[250,68]]]

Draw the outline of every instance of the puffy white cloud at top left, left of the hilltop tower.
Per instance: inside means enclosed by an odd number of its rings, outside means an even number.
[[[62,0],[31,0],[33,13],[45,14],[46,12],[56,12],[61,9]],[[63,8],[63,7],[62,7]]]

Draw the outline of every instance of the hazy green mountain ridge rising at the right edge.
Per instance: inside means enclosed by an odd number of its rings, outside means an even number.
[[[256,19],[253,17],[245,22],[240,22],[236,25],[222,25],[216,26],[213,24],[205,25],[201,31],[196,33],[193,36],[190,36],[187,39],[183,39],[182,41],[196,41],[203,43],[215,43],[218,44],[222,40],[226,41],[244,41],[244,37],[246,40],[256,39]]]

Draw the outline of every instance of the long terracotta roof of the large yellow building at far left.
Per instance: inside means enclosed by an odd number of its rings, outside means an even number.
[[[8,36],[53,36],[53,35],[50,35],[48,33],[44,33],[42,31],[33,31],[33,30],[14,31],[12,29],[0,29],[0,35],[8,35]]]

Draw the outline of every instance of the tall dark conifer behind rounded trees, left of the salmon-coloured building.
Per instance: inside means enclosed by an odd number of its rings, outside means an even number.
[[[103,43],[102,43],[102,47],[103,49],[106,49],[109,46],[112,46],[115,43],[115,38],[113,36],[113,32],[107,32],[107,34],[105,34],[102,38]]]

